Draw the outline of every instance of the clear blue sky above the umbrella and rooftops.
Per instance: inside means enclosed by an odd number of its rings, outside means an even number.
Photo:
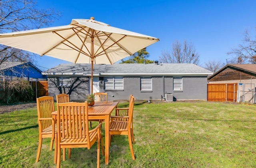
[[[246,29],[256,36],[256,0],[38,0],[38,6],[62,12],[50,27],[93,16],[114,27],[157,37],[160,41],[147,47],[154,61],[170,51],[174,41],[186,40],[196,48],[202,66],[207,61],[226,63],[232,58],[226,53],[242,43]],[[68,62],[38,56],[36,64],[52,68],[62,63]]]

